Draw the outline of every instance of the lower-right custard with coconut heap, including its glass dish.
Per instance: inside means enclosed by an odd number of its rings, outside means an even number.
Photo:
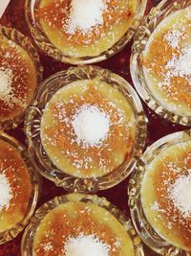
[[[132,181],[138,182],[137,199],[131,196],[134,188],[130,185],[132,216],[138,227],[141,223],[144,226],[141,238],[157,251],[160,246],[161,254],[171,251],[175,255],[187,255],[181,250],[191,252],[190,130],[161,138],[145,151],[141,160],[132,177]],[[136,212],[140,213],[138,220]],[[145,230],[148,238],[144,237]]]

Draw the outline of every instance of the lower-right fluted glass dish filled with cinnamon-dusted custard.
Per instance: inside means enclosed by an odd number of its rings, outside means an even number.
[[[185,232],[183,227],[181,227],[184,230],[182,233],[176,231],[179,227],[176,223],[180,223],[176,222],[176,216],[179,214],[179,220],[182,223],[185,220],[178,209],[181,209],[179,208],[182,203],[181,198],[186,197],[186,191],[183,193],[179,189],[180,192],[175,192],[177,191],[176,185],[182,185],[180,178],[184,180],[184,189],[188,184],[186,180],[189,180],[189,161],[185,159],[190,158],[187,155],[191,148],[190,145],[191,130],[175,132],[162,137],[143,153],[135,172],[130,176],[128,202],[132,221],[144,244],[147,244],[160,255],[191,255],[188,249],[190,246],[189,239],[188,241],[187,238],[185,239],[187,231]],[[183,152],[187,156],[182,156]],[[172,161],[172,159],[179,160]],[[187,171],[180,169],[180,163],[182,162],[186,165]],[[160,170],[162,170],[161,173]],[[180,173],[179,176],[179,172],[183,173]],[[186,172],[187,176],[185,176]],[[176,178],[175,181],[173,181],[174,177]],[[156,187],[158,188],[157,192]],[[167,196],[162,196],[164,192]],[[189,195],[189,191],[187,191],[187,194]],[[181,195],[183,196],[181,197]],[[176,201],[177,196],[180,197],[179,203]],[[161,202],[161,199],[163,202]],[[162,203],[166,206],[161,206]],[[189,200],[185,203],[189,205]],[[186,225],[187,222],[185,222]],[[188,232],[190,232],[189,228]]]

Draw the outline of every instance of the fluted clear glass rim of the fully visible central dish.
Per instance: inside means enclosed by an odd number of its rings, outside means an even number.
[[[73,81],[91,80],[101,77],[120,93],[125,96],[128,103],[132,106],[136,120],[136,137],[133,147],[132,158],[125,161],[116,170],[96,178],[80,178],[73,175],[67,175],[53,165],[46,151],[43,149],[40,137],[40,125],[43,109],[47,102],[50,101],[53,94],[64,85]],[[35,169],[41,174],[52,180],[55,185],[61,186],[72,192],[96,192],[115,186],[125,179],[133,171],[138,157],[144,148],[146,137],[146,117],[138,95],[133,87],[124,79],[96,66],[72,67],[66,71],[54,74],[44,81],[32,103],[29,107],[25,121],[25,132],[28,137],[29,152]]]

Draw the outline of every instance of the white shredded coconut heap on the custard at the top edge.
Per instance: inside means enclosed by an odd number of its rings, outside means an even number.
[[[83,34],[90,32],[97,25],[103,24],[103,12],[106,4],[103,0],[73,0],[67,32],[74,34],[80,30]]]

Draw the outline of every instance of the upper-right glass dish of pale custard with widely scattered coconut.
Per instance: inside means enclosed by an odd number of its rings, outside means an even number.
[[[178,1],[164,10],[159,5],[159,12],[154,9],[149,21],[142,22],[131,68],[143,100],[163,117],[182,125],[191,124],[191,6],[186,3]]]

